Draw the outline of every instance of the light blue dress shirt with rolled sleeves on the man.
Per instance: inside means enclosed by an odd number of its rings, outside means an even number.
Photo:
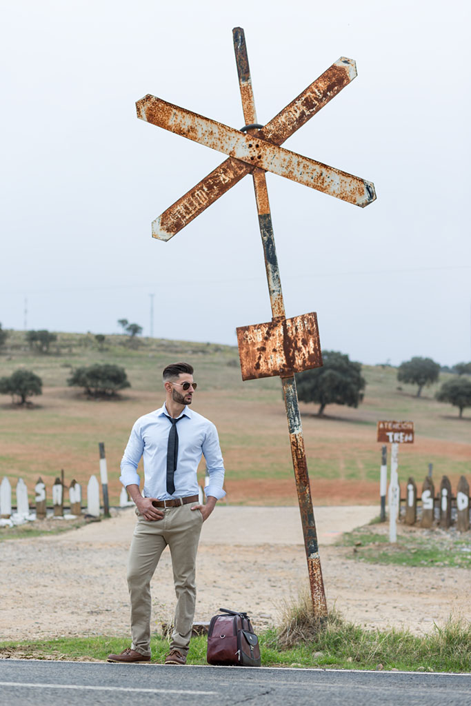
[[[139,485],[137,467],[141,457],[144,460],[144,491],[146,498],[170,500],[198,495],[196,472],[201,456],[204,454],[209,483],[205,486],[206,496],[217,500],[225,496],[222,490],[224,482],[224,462],[217,430],[212,421],[205,419],[193,409],[185,407],[178,417],[178,458],[174,473],[175,492],[167,493],[167,443],[172,422],[167,407],[139,417],[134,424],[128,445],[121,460],[119,480],[126,487]]]

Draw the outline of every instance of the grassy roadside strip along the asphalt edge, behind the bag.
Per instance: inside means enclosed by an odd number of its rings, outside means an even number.
[[[381,664],[383,669],[401,671],[471,671],[471,625],[465,621],[450,620],[427,635],[412,635],[404,630],[365,630],[334,612],[306,639],[298,635],[291,647],[285,646],[281,635],[280,628],[259,635],[262,666],[377,669]],[[191,640],[188,664],[207,664],[206,644],[205,636]],[[129,638],[102,635],[23,640],[0,642],[0,657],[105,661],[108,654],[125,647]],[[151,650],[152,662],[162,664],[169,643],[153,636]]]

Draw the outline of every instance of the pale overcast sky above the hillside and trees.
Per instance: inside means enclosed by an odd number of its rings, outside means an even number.
[[[0,322],[236,344],[269,321],[246,177],[167,243],[150,224],[223,155],[146,93],[240,128],[232,28],[267,122],[339,56],[357,78],[285,147],[374,181],[360,209],[268,174],[287,316],[324,349],[471,359],[469,2],[4,0]]]

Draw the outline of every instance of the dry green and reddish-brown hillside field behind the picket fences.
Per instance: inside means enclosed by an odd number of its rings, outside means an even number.
[[[117,503],[119,461],[133,421],[160,407],[160,373],[170,361],[195,367],[198,393],[193,407],[211,419],[220,433],[227,469],[229,504],[297,503],[287,421],[280,381],[242,382],[237,349],[204,343],[143,339],[130,347],[124,336],[108,336],[103,349],[92,334],[59,334],[49,354],[31,352],[24,336],[12,332],[0,355],[0,376],[23,367],[43,380],[43,394],[22,409],[0,395],[0,477],[22,477],[32,488],[41,476],[48,488],[64,469],[68,484],[86,484],[98,474],[98,443],[105,443],[109,492]],[[95,362],[124,366],[131,388],[117,400],[88,400],[67,386],[72,369]],[[412,419],[415,444],[400,448],[399,476],[417,484],[434,464],[434,480],[447,474],[455,489],[461,474],[471,480],[471,411],[434,400],[438,385],[415,397],[415,388],[398,389],[396,369],[364,366],[366,394],[358,409],[331,405],[326,416],[301,405],[313,500],[316,505],[371,504],[378,501],[381,445],[378,419]],[[441,375],[439,384],[448,376]],[[201,479],[204,465],[201,464]],[[32,494],[32,493],[31,493]],[[50,498],[50,491],[49,491]]]

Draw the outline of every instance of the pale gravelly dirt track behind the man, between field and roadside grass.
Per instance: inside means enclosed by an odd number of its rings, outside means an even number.
[[[342,533],[369,522],[377,507],[316,508],[328,605],[365,626],[405,626],[415,632],[470,614],[463,569],[373,566],[333,546]],[[81,529],[0,544],[0,640],[57,635],[128,635],[125,566],[132,508]],[[221,505],[203,526],[198,551],[196,620],[220,606],[244,609],[262,626],[283,600],[307,585],[297,508]],[[153,579],[153,630],[172,618],[174,590],[166,551]]]

